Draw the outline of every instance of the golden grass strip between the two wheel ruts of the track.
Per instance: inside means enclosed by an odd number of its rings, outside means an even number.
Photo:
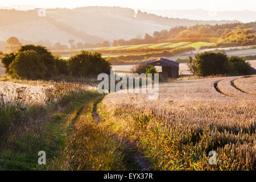
[[[65,128],[67,141],[49,169],[58,170],[125,170],[134,169],[126,160],[132,159],[121,140],[114,137],[109,126],[93,118],[96,98],[68,115]],[[131,165],[131,164],[130,164]],[[135,164],[134,164],[135,165]],[[133,166],[134,167],[134,166]]]

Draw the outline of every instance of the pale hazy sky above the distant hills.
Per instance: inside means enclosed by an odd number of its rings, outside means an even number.
[[[214,1],[214,2],[213,2]],[[191,10],[205,9],[210,11],[254,10],[255,0],[8,0],[1,1],[0,6],[36,5],[40,7],[81,7],[81,6],[121,6],[143,8],[148,10]]]

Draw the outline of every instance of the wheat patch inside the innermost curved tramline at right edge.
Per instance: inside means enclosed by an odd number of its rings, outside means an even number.
[[[256,96],[256,76],[245,76],[234,80],[234,86],[242,92]]]

